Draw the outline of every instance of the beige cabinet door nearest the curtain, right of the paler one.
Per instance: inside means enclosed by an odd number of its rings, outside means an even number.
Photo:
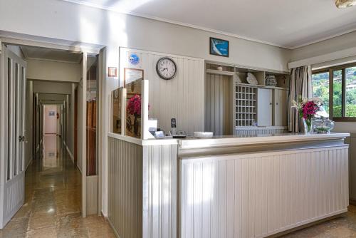
[[[273,89],[273,125],[287,125],[288,91]]]

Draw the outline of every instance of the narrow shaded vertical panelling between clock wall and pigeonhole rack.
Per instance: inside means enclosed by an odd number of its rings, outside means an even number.
[[[206,74],[205,130],[214,135],[234,135],[234,78]]]

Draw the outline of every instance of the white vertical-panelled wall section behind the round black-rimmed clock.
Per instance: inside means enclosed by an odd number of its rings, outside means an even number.
[[[128,62],[130,53],[140,57],[133,66]],[[177,75],[172,80],[159,78],[156,63],[159,58],[170,57],[177,64]],[[151,118],[158,118],[159,128],[169,132],[170,119],[177,118],[177,130],[187,133],[204,130],[204,60],[165,53],[120,48],[120,86],[123,86],[124,68],[140,68],[150,81]]]

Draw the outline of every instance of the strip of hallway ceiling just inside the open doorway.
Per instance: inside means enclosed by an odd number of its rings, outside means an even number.
[[[61,51],[51,48],[41,48],[34,46],[20,46],[25,58],[40,59],[47,61],[61,61],[68,63],[80,63],[81,53],[72,51]]]

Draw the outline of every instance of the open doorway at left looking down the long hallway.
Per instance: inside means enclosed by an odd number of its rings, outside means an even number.
[[[29,204],[36,204],[47,208],[49,220],[68,213],[83,217],[98,214],[98,55],[3,46],[16,51],[28,66],[24,89],[26,186],[20,212]],[[43,202],[35,201],[39,197]]]

